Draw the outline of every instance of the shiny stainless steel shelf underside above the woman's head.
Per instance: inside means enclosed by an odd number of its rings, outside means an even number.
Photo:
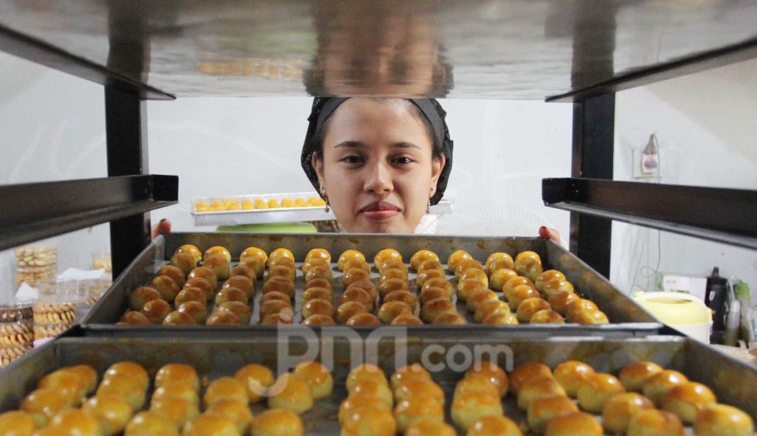
[[[755,2],[0,2],[0,49],[142,98],[579,101],[754,57]],[[380,68],[391,65],[391,68]]]

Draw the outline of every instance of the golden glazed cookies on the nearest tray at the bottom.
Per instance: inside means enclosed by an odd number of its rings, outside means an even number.
[[[151,385],[147,410],[136,413],[145,407]],[[42,378],[20,411],[0,415],[0,434],[298,436],[304,433],[298,414],[329,397],[333,380],[316,362],[301,363],[278,379],[265,366],[250,364],[233,377],[214,379],[202,395],[201,385],[195,369],[179,363],[158,369],[152,384],[145,368],[133,362],[114,363],[99,385],[92,367],[64,367]],[[344,436],[455,434],[444,423],[444,391],[419,364],[397,369],[389,380],[376,366],[357,366],[346,387],[338,412]],[[521,426],[503,416],[500,398],[509,392],[527,413]],[[253,417],[249,404],[263,397],[270,410]],[[509,375],[484,361],[457,382],[450,416],[471,436],[522,434],[525,428],[550,435],[569,429],[589,435],[684,434],[684,424],[693,424],[699,435],[754,431],[746,413],[716,403],[706,386],[646,361],[628,364],[617,377],[577,360],[554,370],[525,362]]]

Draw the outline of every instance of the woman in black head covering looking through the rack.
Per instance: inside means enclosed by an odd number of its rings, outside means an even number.
[[[453,142],[433,98],[315,98],[301,164],[355,233],[413,233],[444,195]],[[170,232],[161,220],[155,233]],[[539,235],[559,241],[554,229]]]

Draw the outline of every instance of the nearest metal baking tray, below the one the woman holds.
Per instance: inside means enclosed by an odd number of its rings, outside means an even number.
[[[260,363],[275,372],[284,372],[300,361],[318,359],[333,368],[335,389],[330,397],[316,400],[313,410],[302,415],[307,434],[339,434],[336,413],[339,403],[347,395],[344,380],[350,367],[361,362],[377,363],[387,375],[407,363],[424,363],[435,382],[445,391],[446,418],[451,422],[449,406],[454,385],[470,365],[466,356],[474,357],[488,347],[496,350],[497,363],[508,372],[527,360],[543,362],[550,368],[565,360],[582,360],[599,372],[617,375],[628,363],[651,360],[667,369],[683,372],[692,381],[704,383],[712,389],[719,403],[737,406],[752,419],[757,419],[757,367],[678,336],[646,339],[556,337],[543,340],[410,337],[348,340],[335,337],[320,341],[290,336],[288,347],[279,355],[282,343],[282,338],[264,332],[223,340],[58,338],[0,370],[0,379],[14,380],[14,383],[0,384],[0,410],[17,407],[23,395],[33,390],[42,375],[78,363],[94,366],[100,375],[107,366],[120,360],[141,363],[151,373],[166,363],[188,363],[201,377],[212,381],[232,375],[246,363]],[[441,367],[434,367],[440,363]],[[253,413],[259,413],[263,408],[262,404],[254,405]],[[503,400],[503,408],[516,422],[525,421],[525,414],[518,410],[512,395]]]

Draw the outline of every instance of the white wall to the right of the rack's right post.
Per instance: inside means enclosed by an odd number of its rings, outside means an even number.
[[[632,150],[659,141],[660,182],[757,188],[757,60],[618,93],[615,179],[631,177]],[[650,182],[656,182],[652,180]],[[757,287],[757,252],[613,223],[610,279],[624,291],[653,288],[662,273],[736,276]],[[634,282],[634,277],[636,278]]]

